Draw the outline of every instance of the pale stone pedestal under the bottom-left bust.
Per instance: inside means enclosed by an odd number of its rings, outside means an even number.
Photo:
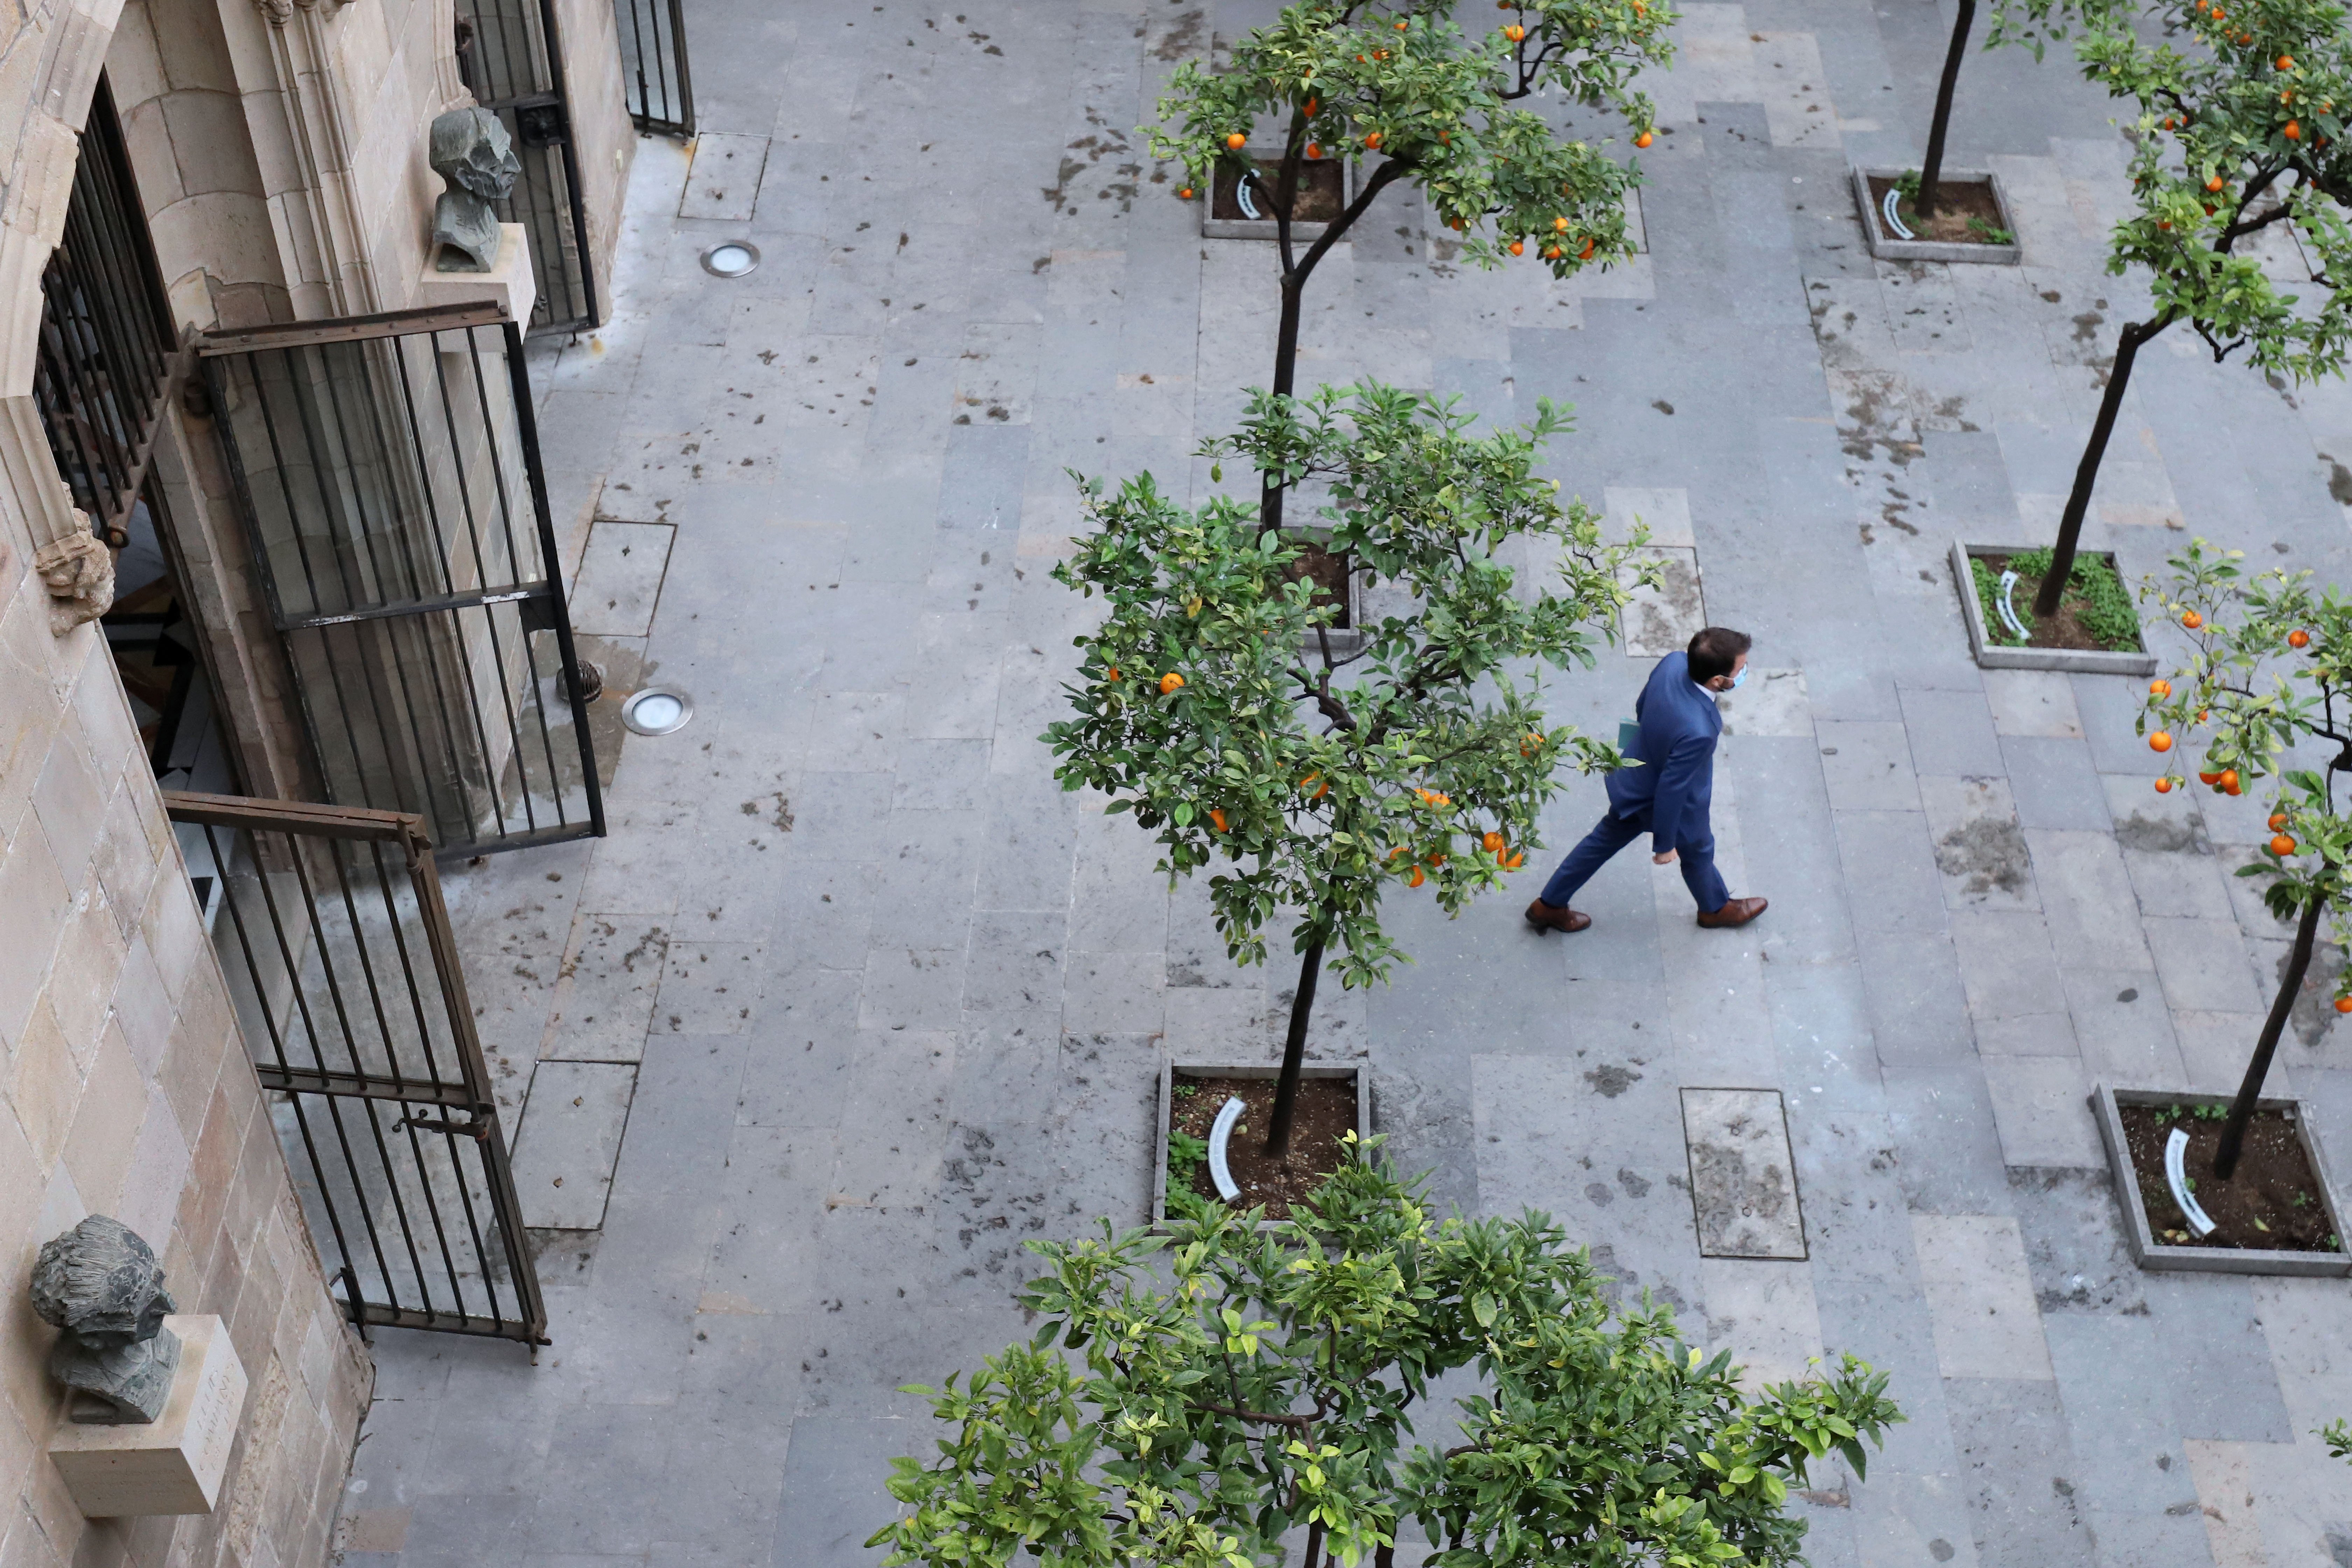
[[[162,1415],[143,1427],[59,1425],[49,1460],[92,1519],[209,1514],[245,1413],[245,1366],[216,1316],[174,1314],[179,1373]]]

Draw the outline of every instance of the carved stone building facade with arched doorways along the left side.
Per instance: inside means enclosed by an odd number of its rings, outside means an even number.
[[[426,127],[473,101],[459,21],[496,2],[0,0],[0,1568],[322,1563],[372,1385],[99,621],[120,550],[73,505],[33,395],[78,134],[103,94],[179,331],[412,308],[442,188]],[[635,148],[614,16],[555,14],[602,284]],[[148,484],[212,766],[221,792],[315,799],[209,423],[174,397]],[[47,1458],[61,1396],[26,1281],[85,1213],[148,1237],[179,1309],[219,1314],[245,1363],[209,1516],[85,1519]]]

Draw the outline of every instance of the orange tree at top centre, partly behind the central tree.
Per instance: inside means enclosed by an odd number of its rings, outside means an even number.
[[[1635,127],[1635,146],[1646,148],[1651,106],[1632,80],[1642,66],[1672,56],[1665,38],[1677,21],[1672,7],[1508,0],[1501,12],[1494,31],[1472,38],[1454,21],[1454,0],[1298,0],[1240,40],[1223,71],[1185,61],[1160,99],[1162,125],[1141,127],[1152,158],[1185,167],[1192,179],[1185,190],[1214,193],[1216,169],[1228,167],[1272,212],[1282,254],[1275,395],[1296,390],[1308,277],[1399,179],[1421,186],[1477,266],[1536,252],[1555,277],[1566,277],[1632,254],[1625,240],[1632,169],[1592,143],[1562,141],[1515,101],[1543,92],[1613,110]],[[1261,118],[1284,125],[1272,186],[1247,150]],[[1322,160],[1369,169],[1338,219],[1298,249],[1291,212],[1301,169]],[[1277,487],[1263,491],[1261,512],[1268,527],[1282,522]]]

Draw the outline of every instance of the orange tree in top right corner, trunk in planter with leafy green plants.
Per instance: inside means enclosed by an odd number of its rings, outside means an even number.
[[[1997,38],[2082,26],[2084,75],[2140,106],[2131,186],[2138,212],[2114,226],[2107,270],[2147,268],[2152,306],[2126,322],[2091,421],[2058,548],[2034,614],[2058,614],[2082,520],[2091,510],[2114,416],[2143,346],[2185,322],[2213,360],[2246,350],[2265,371],[2312,381],[2343,369],[2352,346],[2352,38],[2331,0],[2011,0]],[[2150,42],[2150,40],[2157,42]],[[2284,228],[2307,263],[2303,299],[2263,273],[2241,244]]]

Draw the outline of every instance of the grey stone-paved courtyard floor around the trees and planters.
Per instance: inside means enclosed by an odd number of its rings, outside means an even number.
[[[696,717],[616,759],[607,724],[612,837],[449,877],[553,1347],[376,1338],[346,1568],[877,1561],[931,1441],[896,1385],[1021,1333],[1023,1239],[1145,1218],[1162,1053],[1275,1058],[1294,973],[1235,971],[1037,743],[1084,621],[1063,470],[1200,496],[1270,374],[1265,247],[1202,240],[1131,127],[1272,5],[960,5],[691,0],[694,174],[640,143],[614,320],[539,353],[583,642]],[[2140,1272],[2084,1110],[2234,1086],[2284,931],[2232,877],[2260,802],[2159,799],[2136,682],[1969,661],[1950,541],[2049,538],[2140,294],[2100,270],[2126,143],[2058,54],[1971,56],[1955,120],[2025,266],[1863,252],[1846,167],[1917,155],[1947,26],[1689,2],[1632,266],[1477,273],[1392,190],[1317,275],[1303,381],[1571,400],[1550,473],[1757,637],[1715,825],[1773,900],[1696,931],[1628,853],[1534,936],[1576,780],[1508,893],[1392,900],[1418,964],[1327,987],[1317,1056],[1442,1201],[1562,1215],[1766,1375],[1893,1375],[1882,1462],[1799,1505],[1823,1568],[2352,1563],[2312,1436],[2345,1284]],[[706,275],[720,237],[757,273]],[[2173,331],[2089,543],[2340,583],[2340,501],[2352,393]],[[1649,663],[1557,712],[1606,733]],[[2272,1086],[2352,1171],[2352,1027],[2307,1004]],[[1698,1255],[1682,1088],[1783,1093],[1804,1260]]]

